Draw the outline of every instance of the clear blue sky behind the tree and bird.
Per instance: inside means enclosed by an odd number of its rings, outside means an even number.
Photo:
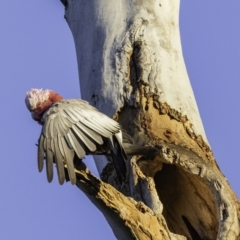
[[[239,186],[240,2],[182,1],[181,37],[207,137],[233,190]],[[39,174],[40,126],[24,105],[32,87],[78,98],[75,47],[58,0],[8,0],[0,8],[0,236],[4,240],[115,239],[101,213],[70,184]],[[96,174],[91,158],[87,164]]]

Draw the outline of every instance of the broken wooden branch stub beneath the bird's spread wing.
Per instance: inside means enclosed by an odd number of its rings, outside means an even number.
[[[110,184],[104,183],[88,170],[76,170],[77,187],[103,213],[113,229],[116,238],[121,240],[186,239],[169,232],[162,216],[156,215],[142,202],[124,196]]]

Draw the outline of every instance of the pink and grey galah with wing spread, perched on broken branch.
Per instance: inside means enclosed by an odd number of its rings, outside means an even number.
[[[118,180],[126,180],[127,154],[122,136],[126,139],[126,149],[133,154],[148,154],[151,147],[131,147],[126,133],[122,135],[118,122],[99,112],[87,101],[63,99],[52,90],[31,89],[26,94],[25,103],[32,118],[41,124],[38,140],[38,169],[41,172],[46,159],[47,179],[53,179],[53,163],[56,163],[58,180],[63,184],[66,176],[76,183],[74,160],[83,159],[87,154],[111,153]],[[140,150],[140,151],[139,151]]]

